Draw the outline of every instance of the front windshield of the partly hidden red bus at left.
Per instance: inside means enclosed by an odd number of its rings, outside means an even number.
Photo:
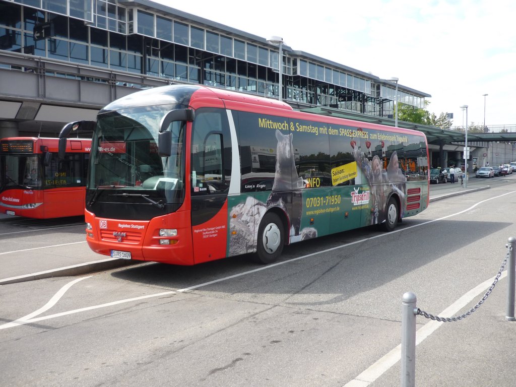
[[[2,189],[41,188],[41,166],[37,155],[2,155]]]

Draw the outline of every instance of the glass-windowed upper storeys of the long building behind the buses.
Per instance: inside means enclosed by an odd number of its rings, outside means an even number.
[[[147,0],[0,0],[0,50],[269,98],[281,62],[282,99],[295,108],[392,117],[394,100],[424,108],[430,96],[401,85],[396,96],[387,80],[286,45],[280,60],[265,38]]]

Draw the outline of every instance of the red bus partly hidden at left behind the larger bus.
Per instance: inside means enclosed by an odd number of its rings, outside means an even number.
[[[8,137],[0,140],[0,213],[27,218],[84,215],[91,139]]]

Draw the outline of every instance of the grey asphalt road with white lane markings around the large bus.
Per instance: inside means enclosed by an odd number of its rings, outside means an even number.
[[[389,354],[400,343],[402,295],[414,292],[433,314],[465,313],[516,236],[516,178],[497,179],[451,197],[455,187],[432,186],[430,207],[394,233],[367,228],[306,241],[285,248],[275,265],[245,256],[194,267],[147,263],[1,285],[0,385],[400,385],[400,362]],[[0,243],[33,248],[51,235],[55,245],[84,235],[80,224],[65,230]],[[87,254],[79,243],[52,249]],[[416,348],[416,385],[514,384],[505,275],[458,322],[435,327],[417,317],[420,340],[431,333]]]

